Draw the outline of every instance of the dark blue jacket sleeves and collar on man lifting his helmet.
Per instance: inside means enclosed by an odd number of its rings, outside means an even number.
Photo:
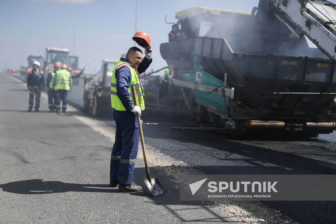
[[[134,68],[132,63],[130,63],[127,59],[120,58],[121,61],[126,62],[130,66]],[[144,58],[138,68],[135,69],[137,71],[137,75],[139,77],[139,74],[143,73],[146,71],[146,69],[150,66],[152,63],[153,59],[151,61],[148,61],[148,59]],[[128,85],[131,82],[132,76],[131,76],[131,71],[129,70],[128,66],[122,66],[119,69],[116,70],[116,79],[117,79],[117,95],[125,107],[127,111],[133,110],[134,105],[130,99],[130,95],[128,92]],[[141,82],[140,82],[141,83]]]

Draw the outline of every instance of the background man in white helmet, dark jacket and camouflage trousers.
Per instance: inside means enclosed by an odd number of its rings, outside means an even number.
[[[29,73],[27,78],[27,89],[29,90],[29,112],[32,111],[34,104],[35,94],[35,111],[39,112],[40,99],[41,99],[41,86],[44,91],[44,74],[40,69],[40,63],[38,61],[33,62],[33,70]]]

